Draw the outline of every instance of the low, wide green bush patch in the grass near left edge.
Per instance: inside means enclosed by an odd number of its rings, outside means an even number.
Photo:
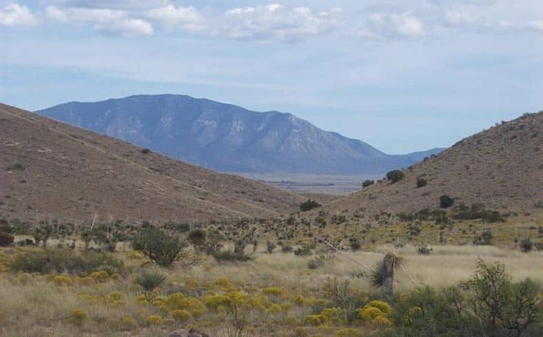
[[[123,272],[123,262],[112,254],[85,252],[79,254],[73,250],[31,250],[17,255],[10,264],[12,270],[20,272],[52,272],[70,274],[90,274],[96,270],[114,270]]]

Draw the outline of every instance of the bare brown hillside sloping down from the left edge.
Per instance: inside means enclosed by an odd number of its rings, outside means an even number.
[[[278,217],[305,198],[0,104],[0,218]]]

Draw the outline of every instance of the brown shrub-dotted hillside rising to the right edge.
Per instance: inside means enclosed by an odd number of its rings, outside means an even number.
[[[331,202],[331,214],[365,209],[369,213],[440,208],[440,196],[455,205],[540,213],[543,203],[543,112],[496,124],[451,148],[404,169],[404,179],[380,180]],[[427,181],[418,188],[417,178]]]

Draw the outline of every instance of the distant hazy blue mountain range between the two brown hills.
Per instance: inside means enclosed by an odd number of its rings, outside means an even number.
[[[183,95],[69,102],[37,113],[223,172],[376,174],[442,151],[388,155],[291,113]]]

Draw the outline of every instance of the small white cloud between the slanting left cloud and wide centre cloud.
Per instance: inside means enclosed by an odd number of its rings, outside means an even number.
[[[147,12],[147,17],[161,22],[168,28],[179,25],[186,30],[196,30],[203,23],[203,17],[192,6],[176,8],[170,5],[162,8],[154,8]]]

